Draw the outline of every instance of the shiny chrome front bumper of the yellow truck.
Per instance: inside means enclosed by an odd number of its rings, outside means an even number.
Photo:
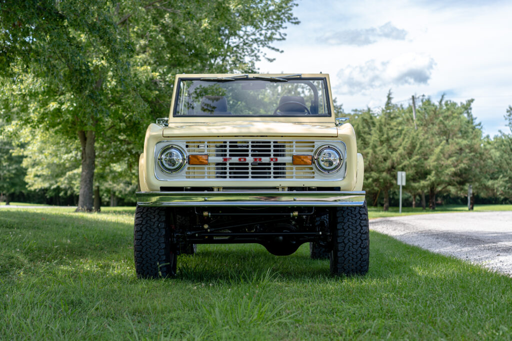
[[[299,207],[362,206],[365,191],[329,192],[137,192],[138,206]]]

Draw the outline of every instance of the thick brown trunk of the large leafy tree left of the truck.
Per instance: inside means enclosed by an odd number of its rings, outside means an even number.
[[[92,212],[93,185],[96,154],[94,151],[94,131],[78,131],[78,138],[82,147],[82,170],[80,173],[80,194],[76,212]]]

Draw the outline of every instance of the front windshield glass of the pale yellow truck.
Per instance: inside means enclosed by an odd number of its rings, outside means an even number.
[[[330,116],[325,78],[180,79],[174,116]]]

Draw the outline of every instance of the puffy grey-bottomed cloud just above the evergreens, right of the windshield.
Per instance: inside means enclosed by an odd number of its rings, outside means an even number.
[[[432,57],[404,54],[389,61],[374,59],[361,65],[348,65],[337,73],[336,89],[341,94],[366,93],[368,90],[404,84],[427,84],[435,61]]]

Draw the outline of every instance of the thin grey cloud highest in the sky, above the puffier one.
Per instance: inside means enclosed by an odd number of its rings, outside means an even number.
[[[387,22],[380,27],[371,27],[369,29],[331,32],[318,37],[317,40],[326,41],[329,44],[365,46],[373,44],[382,38],[404,40],[406,36],[406,30],[398,29],[391,22]]]

